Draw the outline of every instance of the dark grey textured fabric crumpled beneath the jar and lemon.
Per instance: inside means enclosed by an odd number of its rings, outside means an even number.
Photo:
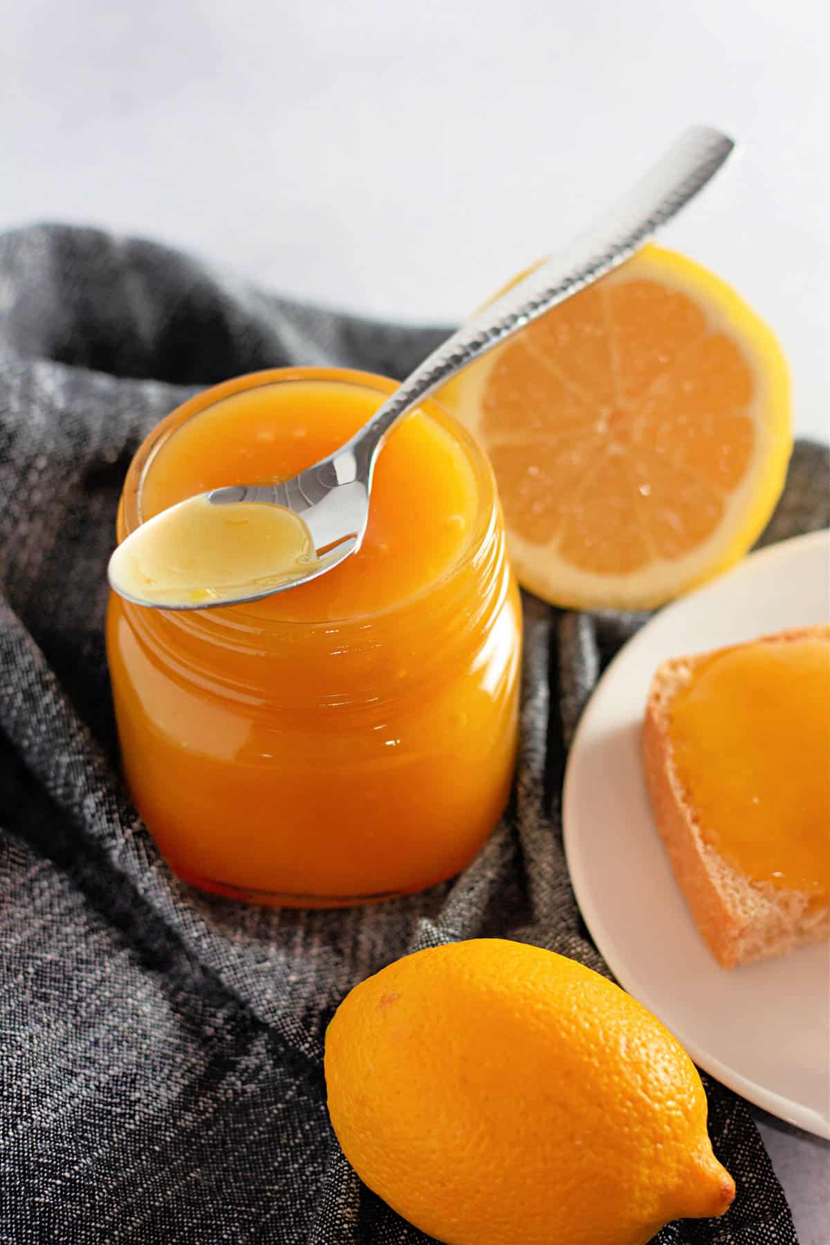
[[[1,1241],[424,1241],[360,1185],[329,1127],[322,1040],[340,998],[408,950],[475,935],[607,972],[569,885],[559,792],[585,700],[641,616],[525,599],[510,812],[460,878],[421,895],[335,913],[209,899],[170,876],[117,777],[105,564],[144,433],[234,374],[399,376],[439,336],[92,230],[0,238]],[[770,534],[824,525],[826,503],[826,456],[801,444]],[[661,1245],[795,1241],[745,1103],[707,1091],[738,1198]]]

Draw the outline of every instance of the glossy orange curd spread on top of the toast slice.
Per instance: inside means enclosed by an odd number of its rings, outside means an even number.
[[[830,891],[830,644],[713,654],[671,713],[677,774],[703,837],[755,881]]]

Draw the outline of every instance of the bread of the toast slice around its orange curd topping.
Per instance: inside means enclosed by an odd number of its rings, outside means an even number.
[[[753,644],[805,637],[830,645],[830,626],[781,631]],[[816,905],[803,891],[748,878],[701,833],[692,798],[674,767],[669,713],[673,697],[688,684],[694,667],[711,656],[678,657],[660,666],[646,706],[642,746],[646,783],[674,876],[712,954],[722,967],[730,969],[829,937],[830,905]],[[786,781],[785,774],[781,781]],[[828,818],[830,835],[830,809]]]

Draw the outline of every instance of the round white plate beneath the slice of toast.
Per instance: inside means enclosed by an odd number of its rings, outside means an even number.
[[[564,832],[574,890],[625,989],[694,1062],[772,1114],[830,1137],[830,946],[724,971],[657,834],[640,728],[661,661],[830,620],[830,533],[753,554],[657,614],[600,680],[571,748]]]

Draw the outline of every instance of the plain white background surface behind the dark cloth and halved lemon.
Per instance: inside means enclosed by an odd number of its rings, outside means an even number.
[[[450,322],[708,121],[740,163],[664,242],[769,320],[796,431],[828,439],[828,21],[824,0],[21,0],[0,228],[101,224]],[[826,1147],[764,1134],[824,1245]]]

